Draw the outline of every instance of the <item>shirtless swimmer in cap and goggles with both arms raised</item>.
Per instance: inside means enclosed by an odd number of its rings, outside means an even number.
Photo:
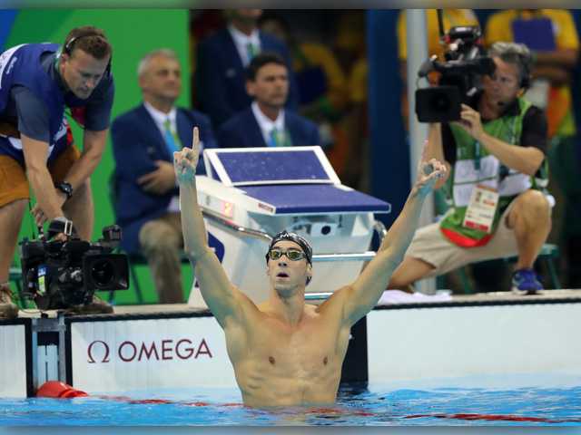
[[[256,305],[231,284],[208,247],[195,180],[200,153],[197,130],[193,136],[192,150],[174,153],[184,246],[202,296],[224,329],[244,404],[332,403],[350,328],[377,304],[418,226],[424,198],[446,168],[438,160],[422,161],[419,178],[377,256],[353,283],[319,306],[305,304],[304,298],[312,275],[309,243],[284,231],[274,237],[266,255],[270,296]]]

